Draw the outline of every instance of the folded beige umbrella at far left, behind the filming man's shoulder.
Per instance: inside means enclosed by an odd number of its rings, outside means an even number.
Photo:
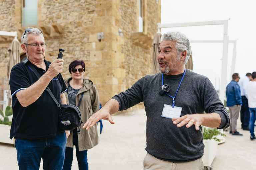
[[[7,75],[8,75],[8,80],[10,79],[10,73],[12,70],[12,67],[16,65],[17,63],[20,62],[20,53],[23,52],[20,42],[17,39],[14,39],[11,43],[11,45],[8,48],[9,50],[9,61],[7,65]],[[8,91],[8,99],[9,99],[9,105],[11,104],[11,92],[10,90]]]

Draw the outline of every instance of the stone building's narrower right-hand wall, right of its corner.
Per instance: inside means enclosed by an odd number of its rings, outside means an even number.
[[[160,16],[158,15],[159,4],[156,4],[156,0],[147,0],[146,15],[148,22],[144,25],[144,32],[153,39],[157,32],[157,23]],[[125,38],[125,45],[122,46],[122,52],[125,55],[125,70],[126,77],[124,79],[126,87],[131,87],[138,79],[147,74],[152,74],[152,50],[153,48],[142,48],[132,43],[132,33],[138,32],[138,12],[137,12],[137,0],[121,0],[120,13],[121,22],[120,28],[123,30],[123,36]],[[136,15],[137,14],[137,15]],[[146,27],[146,29],[145,29]],[[152,43],[152,40],[151,42]]]

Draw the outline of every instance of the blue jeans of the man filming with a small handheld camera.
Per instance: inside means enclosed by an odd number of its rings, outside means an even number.
[[[19,170],[38,170],[41,158],[43,158],[43,169],[62,170],[66,143],[65,131],[46,139],[16,139]]]

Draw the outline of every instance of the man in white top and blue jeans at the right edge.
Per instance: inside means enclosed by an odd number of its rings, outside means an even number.
[[[248,105],[250,110],[250,133],[251,140],[255,140],[254,127],[255,127],[255,115],[256,115],[256,72],[252,73],[252,81],[247,84],[247,96],[248,96]]]

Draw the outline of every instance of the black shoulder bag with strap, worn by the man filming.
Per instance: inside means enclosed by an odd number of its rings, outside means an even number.
[[[38,71],[35,69],[35,67],[30,62],[28,62],[27,60],[25,60],[25,61],[26,62],[24,62],[24,63],[28,65],[28,67],[36,74],[36,76],[38,78],[40,78],[41,76],[38,73]],[[79,110],[79,106],[81,104],[84,93],[82,93],[82,96],[79,100],[78,106],[76,107],[74,105],[59,104],[59,102],[56,100],[56,98],[52,94],[50,88],[46,87],[45,90],[50,94],[50,96],[52,97],[52,99],[56,103],[57,107],[60,108],[59,118],[58,118],[59,127],[62,130],[73,130],[75,128],[78,128],[77,132],[79,134],[81,134],[80,126],[83,122],[81,120],[81,112]]]

